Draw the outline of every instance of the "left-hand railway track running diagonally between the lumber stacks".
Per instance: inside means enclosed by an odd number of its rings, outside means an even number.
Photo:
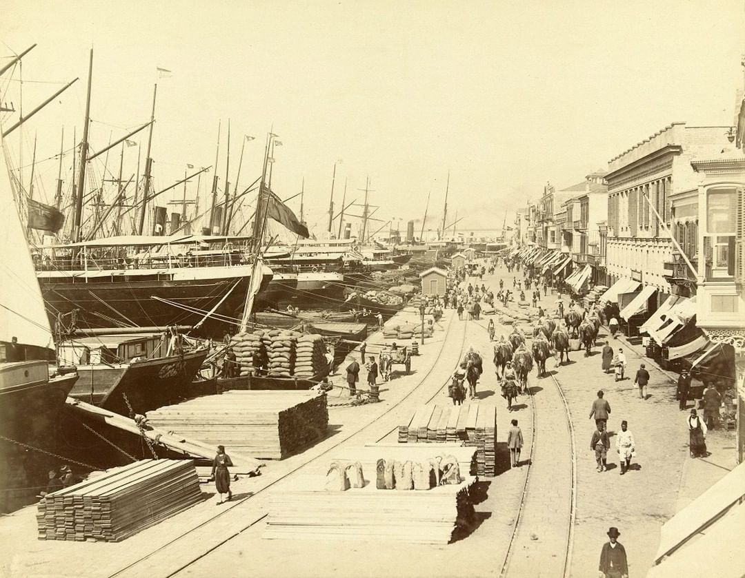
[[[448,326],[448,328],[449,328],[449,326]],[[460,351],[459,351],[459,354],[457,356],[458,359],[460,359],[460,357],[463,355],[463,349],[464,349],[465,344],[466,344],[466,333],[467,332],[464,329],[463,330],[463,338],[460,341],[460,348],[459,348]],[[438,353],[438,356],[437,356],[438,359],[440,358],[440,356],[443,353],[443,350],[445,349],[446,342],[447,342],[447,340],[446,339],[443,339],[443,344],[441,345],[440,352]],[[351,433],[349,433],[349,435],[347,435],[346,437],[343,437],[343,439],[338,440],[337,443],[335,443],[333,446],[329,447],[328,449],[324,450],[320,454],[314,455],[313,457],[309,458],[308,460],[305,460],[302,463],[299,463],[299,465],[297,465],[297,467],[294,467],[290,471],[285,472],[284,475],[280,476],[279,478],[276,478],[276,480],[271,481],[269,484],[265,485],[264,487],[261,487],[260,489],[257,489],[256,492],[252,492],[252,493],[250,493],[250,495],[247,495],[245,498],[241,498],[240,500],[235,501],[235,503],[232,503],[229,508],[220,510],[220,512],[216,513],[214,516],[210,516],[206,520],[200,522],[200,524],[197,524],[196,526],[189,528],[184,533],[180,534],[179,536],[175,537],[174,539],[171,539],[168,542],[165,542],[165,544],[159,546],[159,548],[156,548],[155,550],[152,550],[152,551],[146,553],[144,556],[141,556],[138,559],[134,560],[133,562],[130,562],[129,564],[127,564],[123,568],[119,568],[117,571],[113,572],[112,574],[108,574],[107,575],[108,578],[121,577],[124,574],[133,574],[133,572],[136,571],[136,566],[141,565],[143,562],[147,562],[148,559],[152,558],[153,556],[155,556],[158,553],[161,553],[163,550],[165,550],[167,548],[174,547],[174,545],[177,545],[178,542],[182,541],[183,539],[186,539],[187,537],[190,537],[193,533],[197,532],[198,530],[203,529],[204,527],[208,526],[209,524],[212,524],[213,522],[218,521],[220,518],[223,518],[223,516],[228,515],[229,513],[232,512],[233,509],[235,509],[237,507],[240,507],[242,504],[246,504],[247,502],[253,500],[254,498],[256,498],[259,495],[261,495],[261,496],[265,495],[265,492],[266,492],[267,489],[270,489],[271,487],[273,487],[276,484],[278,484],[280,481],[285,480],[289,476],[293,475],[299,469],[302,469],[303,467],[307,466],[308,463],[311,463],[312,461],[317,460],[318,458],[323,457],[324,455],[329,454],[329,452],[332,452],[333,450],[335,450],[338,446],[340,446],[340,444],[346,442],[346,440],[349,440],[349,438],[351,438],[351,437],[353,437],[355,435],[358,435],[358,434],[363,433],[367,428],[370,428],[375,423],[378,423],[385,416],[389,415],[392,411],[394,411],[397,408],[399,408],[402,405],[402,403],[405,402],[406,399],[409,399],[410,398],[410,396],[412,396],[413,394],[415,394],[417,391],[420,391],[420,389],[422,388],[422,386],[425,385],[425,383],[427,382],[428,377],[431,376],[431,374],[434,372],[434,370],[436,368],[437,368],[437,360],[435,360],[435,362],[430,367],[430,369],[427,371],[427,373],[425,373],[425,375],[422,376],[422,379],[419,380],[419,383],[417,385],[415,385],[413,388],[411,388],[411,390],[408,391],[408,393],[405,394],[405,396],[403,396],[401,399],[399,399],[398,402],[396,402],[394,405],[391,405],[390,408],[387,408],[381,414],[379,414],[378,416],[376,416],[375,419],[373,419],[372,421],[370,421],[370,423],[367,423],[367,425],[364,426],[363,428],[358,429],[356,431],[352,431]],[[443,387],[446,386],[448,382],[449,382],[449,374],[448,374],[448,379],[446,380],[446,382],[442,386],[440,386],[440,388],[438,388],[437,391],[435,391],[434,394],[432,394],[432,396],[430,396],[427,399],[427,402],[431,402],[431,400],[434,399],[435,396],[437,396],[438,394],[440,394],[440,391],[443,390]],[[381,439],[383,439],[384,437],[386,437],[388,434],[390,434],[391,431],[395,431],[396,428],[397,428],[397,426],[395,426],[393,429],[387,431],[387,433],[383,437],[378,438],[378,441],[381,440]],[[180,572],[183,572],[189,566],[193,565],[195,562],[197,562],[200,559],[202,559],[204,556],[209,555],[209,553],[211,553],[212,551],[216,550],[217,548],[220,548],[222,545],[226,544],[226,542],[229,542],[230,540],[234,539],[236,536],[239,536],[241,533],[243,533],[244,531],[248,530],[250,527],[253,527],[256,524],[258,524],[261,520],[263,520],[264,518],[266,518],[266,516],[267,516],[267,513],[264,513],[261,516],[253,517],[252,519],[246,521],[245,525],[241,525],[241,527],[239,527],[238,530],[236,530],[235,532],[231,533],[229,536],[226,536],[226,538],[223,539],[218,544],[212,545],[212,547],[210,547],[209,549],[204,550],[204,551],[198,553],[198,555],[196,555],[193,558],[188,559],[186,562],[184,562],[183,565],[180,565],[178,568],[175,568],[175,569],[173,569],[171,571],[168,571],[168,574],[163,574],[163,576],[165,576],[167,578],[171,578],[171,577],[175,576],[176,574],[179,574]]]

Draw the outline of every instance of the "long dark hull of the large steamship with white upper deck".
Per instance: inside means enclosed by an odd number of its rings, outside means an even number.
[[[52,326],[58,313],[68,314],[74,309],[77,309],[78,327],[195,325],[217,306],[199,330],[200,335],[215,337],[222,337],[234,327],[225,318],[234,318],[242,312],[250,283],[250,274],[210,277],[208,273],[203,278],[180,279],[156,272],[151,275],[154,278],[142,277],[127,278],[123,274],[80,278],[71,274],[69,277],[39,275],[38,279]],[[259,295],[270,277],[269,274],[262,279]]]

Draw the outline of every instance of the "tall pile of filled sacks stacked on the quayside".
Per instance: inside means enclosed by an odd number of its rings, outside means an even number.
[[[235,353],[241,377],[253,375],[253,356],[256,353],[269,359],[269,376],[309,379],[328,373],[326,344],[318,334],[256,330],[233,335],[230,347]]]

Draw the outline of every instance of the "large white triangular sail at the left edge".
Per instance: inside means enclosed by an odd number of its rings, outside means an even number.
[[[54,348],[37,274],[10,184],[0,138],[0,341]]]

